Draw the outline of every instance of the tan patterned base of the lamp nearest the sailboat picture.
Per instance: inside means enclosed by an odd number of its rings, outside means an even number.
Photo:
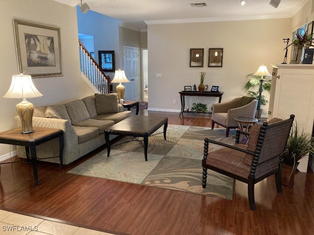
[[[18,112],[21,119],[22,133],[27,134],[34,132],[32,123],[34,105],[24,98],[21,103],[16,105],[16,111]]]

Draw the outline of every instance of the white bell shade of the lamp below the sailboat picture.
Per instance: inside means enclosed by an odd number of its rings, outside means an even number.
[[[43,96],[33,84],[30,75],[13,75],[9,90],[4,98],[35,98]]]

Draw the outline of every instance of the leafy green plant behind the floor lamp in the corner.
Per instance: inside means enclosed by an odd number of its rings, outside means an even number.
[[[246,94],[249,96],[253,96],[257,100],[259,100],[260,91],[259,88],[261,86],[261,76],[253,75],[253,73],[247,74],[248,82],[244,85],[244,89],[246,90]],[[258,91],[252,91],[250,89],[258,89]],[[262,84],[263,90],[270,92],[271,88],[271,79],[264,80]],[[265,95],[261,96],[261,105],[266,105],[268,100],[266,100]],[[260,110],[260,114],[262,114],[262,110]],[[260,117],[259,117],[260,118]]]

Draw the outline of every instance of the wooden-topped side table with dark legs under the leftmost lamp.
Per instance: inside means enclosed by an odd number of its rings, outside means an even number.
[[[35,186],[38,186],[36,146],[54,138],[59,138],[59,158],[63,170],[63,131],[60,129],[34,127],[33,133],[22,134],[21,128],[15,128],[0,133],[0,143],[25,146],[27,161],[31,162]],[[30,155],[29,155],[30,149]]]

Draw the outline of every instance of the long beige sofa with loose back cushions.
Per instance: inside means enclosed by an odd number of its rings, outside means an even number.
[[[64,131],[63,164],[69,164],[105,144],[105,129],[131,116],[118,104],[117,94],[95,94],[66,104],[35,107],[33,126]],[[15,117],[15,127],[20,127]],[[111,136],[110,136],[111,137]],[[115,136],[112,136],[113,139]],[[26,158],[25,148],[18,146],[18,156]],[[59,163],[58,139],[36,146],[37,158]]]

